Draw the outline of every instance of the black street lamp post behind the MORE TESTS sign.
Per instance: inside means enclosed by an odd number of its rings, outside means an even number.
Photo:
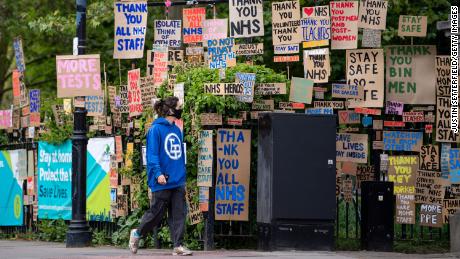
[[[78,55],[85,54],[86,0],[77,3]],[[86,247],[91,244],[91,232],[86,221],[86,110],[75,107],[72,136],[72,220],[67,231],[66,247]]]

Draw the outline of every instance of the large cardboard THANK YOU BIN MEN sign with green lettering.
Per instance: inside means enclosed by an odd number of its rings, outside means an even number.
[[[435,104],[435,55],[436,46],[388,46],[387,100],[405,104]]]

